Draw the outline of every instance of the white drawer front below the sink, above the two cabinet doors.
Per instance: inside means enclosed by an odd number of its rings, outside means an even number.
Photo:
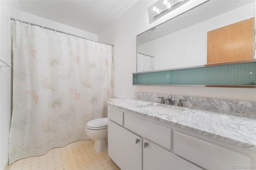
[[[171,149],[171,129],[156,123],[124,113],[124,127],[157,143]]]

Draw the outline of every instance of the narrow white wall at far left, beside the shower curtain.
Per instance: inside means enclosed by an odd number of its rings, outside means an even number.
[[[10,16],[20,18],[20,6],[17,1],[0,1],[0,58],[10,63],[11,56],[11,22]],[[8,143],[11,120],[11,68],[2,67],[0,71],[0,170],[8,162]]]

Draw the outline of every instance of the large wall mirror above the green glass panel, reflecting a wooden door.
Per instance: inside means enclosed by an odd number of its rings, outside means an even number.
[[[232,51],[244,47],[247,48],[244,51],[248,53],[242,51],[238,53],[239,57],[233,60],[255,60],[254,18],[255,0],[204,2],[137,36],[137,72],[226,62],[222,59],[227,55],[237,55],[232,54]],[[240,25],[244,23],[251,30]],[[232,40],[232,36],[228,37],[230,29],[237,32],[237,36],[233,37],[244,39],[246,35],[247,40]],[[235,50],[232,49],[234,44]],[[220,51],[225,48],[232,49],[231,53],[229,51],[230,54],[222,55]],[[214,59],[218,56],[220,61],[208,61],[211,55]]]

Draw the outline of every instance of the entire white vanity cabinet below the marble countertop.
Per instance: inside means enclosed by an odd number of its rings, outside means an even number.
[[[256,167],[253,148],[203,135],[192,127],[180,128],[111,106],[108,119],[108,153],[122,170]]]

